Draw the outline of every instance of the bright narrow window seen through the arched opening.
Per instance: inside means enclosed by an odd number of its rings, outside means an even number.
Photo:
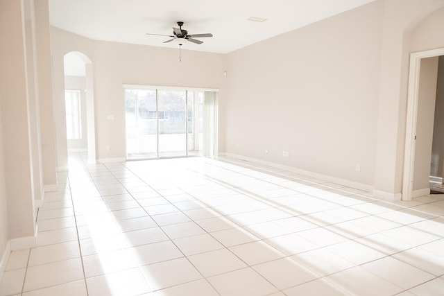
[[[80,109],[80,89],[65,89],[67,139],[69,140],[82,139]]]

